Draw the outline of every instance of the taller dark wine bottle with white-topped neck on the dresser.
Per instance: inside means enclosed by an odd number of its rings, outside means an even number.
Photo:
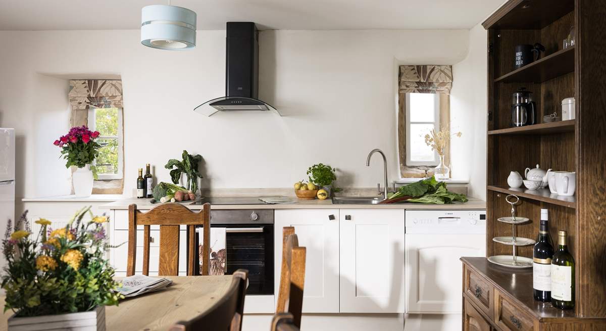
[[[551,258],[553,242],[549,235],[548,211],[541,209],[539,238],[533,250],[533,296],[537,301],[551,301]]]

